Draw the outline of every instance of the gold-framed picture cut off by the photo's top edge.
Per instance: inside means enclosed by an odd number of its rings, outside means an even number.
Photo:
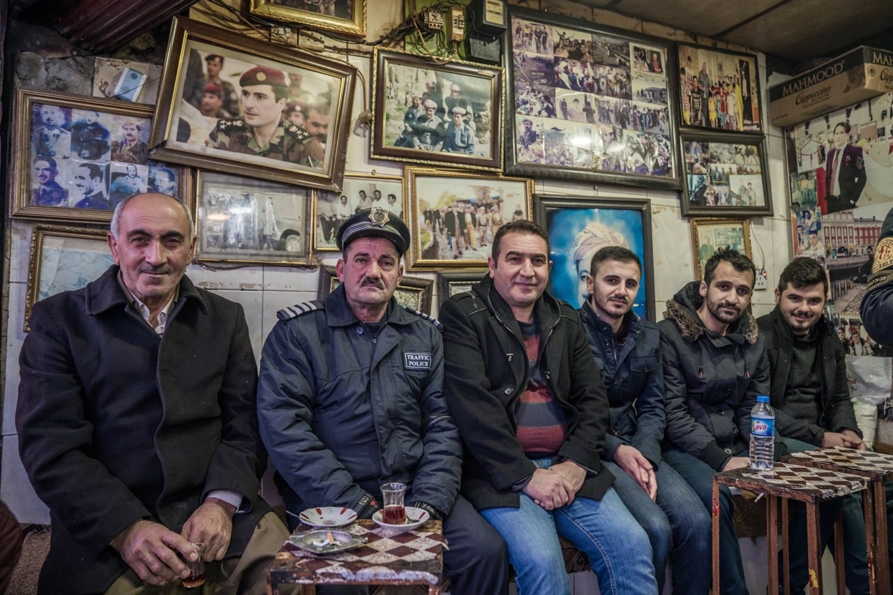
[[[313,29],[366,35],[366,0],[251,0],[251,13]]]

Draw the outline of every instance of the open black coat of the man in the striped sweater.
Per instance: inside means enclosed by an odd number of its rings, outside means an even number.
[[[539,365],[567,415],[555,460],[572,459],[587,469],[577,495],[600,499],[613,483],[601,464],[608,427],[605,381],[572,306],[543,293],[535,316]],[[447,299],[440,319],[447,354],[444,390],[465,446],[463,496],[479,510],[519,507],[514,488],[535,470],[515,434],[514,408],[530,378],[521,327],[486,275],[471,291]]]

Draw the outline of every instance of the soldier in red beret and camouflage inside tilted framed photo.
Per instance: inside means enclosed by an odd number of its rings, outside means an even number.
[[[205,145],[321,168],[324,149],[320,141],[283,118],[288,105],[285,74],[269,66],[255,66],[245,71],[238,84],[243,116],[218,120]]]

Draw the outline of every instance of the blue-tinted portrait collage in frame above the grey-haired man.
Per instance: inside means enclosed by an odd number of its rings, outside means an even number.
[[[31,105],[29,205],[112,211],[153,190],[178,197],[179,168],[149,159],[151,119]]]

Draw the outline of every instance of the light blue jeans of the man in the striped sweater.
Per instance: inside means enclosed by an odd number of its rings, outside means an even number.
[[[533,464],[547,469],[551,461]],[[602,595],[657,593],[648,537],[613,489],[600,500],[577,498],[555,510],[519,495],[520,507],[480,510],[508,545],[519,595],[570,595],[558,535],[588,556]]]

